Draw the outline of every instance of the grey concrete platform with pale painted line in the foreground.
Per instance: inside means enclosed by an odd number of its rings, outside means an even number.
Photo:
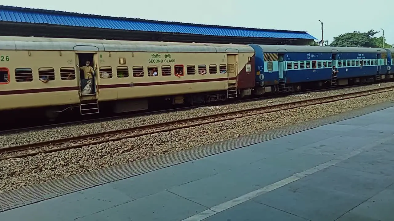
[[[58,197],[42,194],[47,200],[37,198],[38,203],[15,203],[14,197],[9,209],[2,207],[0,220],[392,221],[392,106],[394,103],[379,104],[293,125],[281,129],[282,136],[278,131],[276,135],[256,132],[233,140],[236,145],[247,145],[238,149],[226,151],[223,146],[229,143],[216,144],[215,148],[222,148],[217,154],[208,146],[164,156],[173,159],[173,166],[160,161],[163,156],[147,160],[145,168],[153,170],[148,164],[156,162],[161,169],[69,194],[62,192]],[[294,133],[296,128],[300,132]],[[263,136],[268,136],[266,141],[249,145],[251,139]],[[204,148],[206,156],[202,158],[188,161],[185,157],[197,154],[195,151],[203,154]],[[133,165],[127,166],[131,170]],[[115,172],[112,168],[112,173],[126,169],[119,167]],[[46,185],[51,185],[50,189],[73,180],[76,186],[82,182],[74,177]],[[43,189],[41,185],[3,197]]]

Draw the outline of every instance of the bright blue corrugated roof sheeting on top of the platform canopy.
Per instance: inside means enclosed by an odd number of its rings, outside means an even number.
[[[316,39],[306,31],[284,31],[187,24],[180,22],[162,22],[137,18],[117,18],[12,6],[0,6],[0,21],[229,37]]]

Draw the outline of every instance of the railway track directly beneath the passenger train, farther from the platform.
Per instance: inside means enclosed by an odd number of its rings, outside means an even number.
[[[105,121],[109,121],[109,120],[119,120],[119,119],[125,119],[125,118],[132,118],[132,117],[138,117],[138,116],[151,115],[151,114],[162,114],[162,113],[168,113],[168,112],[190,110],[190,109],[199,108],[199,107],[205,107],[205,106],[210,106],[210,105],[227,105],[227,104],[230,104],[230,103],[241,103],[241,102],[245,103],[245,102],[264,100],[264,99],[281,98],[281,97],[295,95],[295,94],[306,94],[306,93],[311,93],[311,92],[331,91],[331,90],[355,88],[355,87],[362,87],[362,86],[365,86],[365,85],[351,85],[351,86],[345,86],[345,87],[330,87],[330,88],[319,89],[319,90],[307,90],[307,91],[303,91],[303,92],[294,92],[294,93],[289,93],[289,94],[279,94],[279,95],[273,95],[273,96],[268,96],[268,97],[250,98],[250,99],[243,99],[243,100],[230,101],[230,102],[227,101],[227,102],[224,102],[224,103],[213,103],[213,104],[206,104],[206,105],[199,105],[199,106],[192,106],[192,107],[181,107],[181,108],[175,108],[175,109],[154,110],[154,111],[149,111],[149,112],[144,112],[144,113],[132,113],[132,114],[125,114],[125,115],[121,115],[121,116],[109,116],[109,117],[94,118],[94,119],[87,119],[87,120],[78,120],[78,121],[71,121],[71,122],[69,121],[69,122],[63,122],[63,123],[51,123],[51,124],[38,125],[38,126],[32,126],[32,127],[7,129],[7,130],[2,130],[2,131],[0,130],[0,134],[23,132],[23,131],[32,131],[32,130],[51,129],[51,128],[54,128],[54,127],[64,127],[64,126],[67,126],[67,125],[76,125],[76,124],[84,124],[84,123],[99,123],[99,122],[105,122]]]

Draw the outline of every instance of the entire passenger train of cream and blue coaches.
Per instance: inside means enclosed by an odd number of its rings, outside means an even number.
[[[393,78],[390,48],[0,36],[2,116],[201,105]],[[38,116],[37,115],[37,116]]]

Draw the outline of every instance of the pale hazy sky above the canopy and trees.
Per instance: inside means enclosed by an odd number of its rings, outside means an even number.
[[[394,44],[392,19],[385,9],[394,8],[394,0],[3,0],[3,5],[50,9],[114,17],[143,18],[197,24],[246,28],[307,31],[324,40],[353,31],[380,31]]]

